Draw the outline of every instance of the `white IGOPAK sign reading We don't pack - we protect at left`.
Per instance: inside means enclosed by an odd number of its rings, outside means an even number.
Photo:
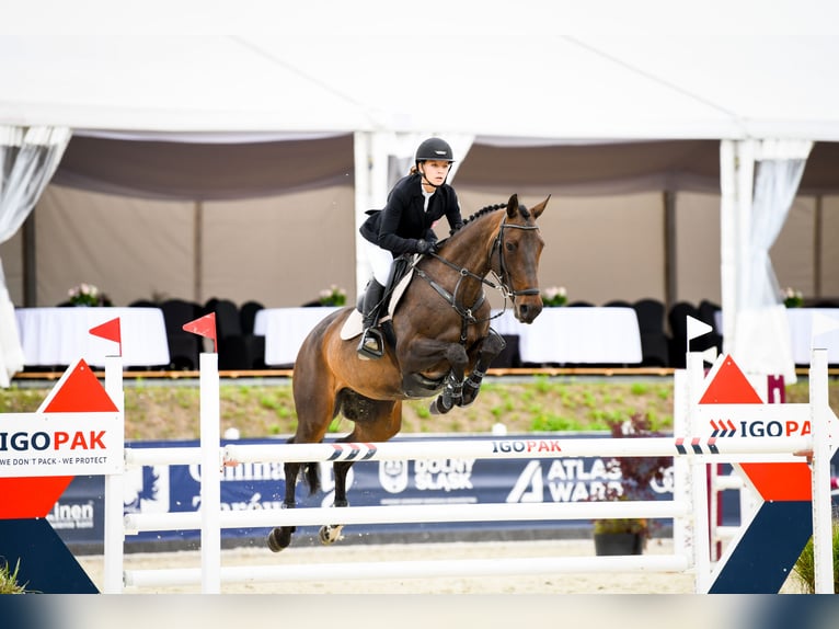
[[[119,413],[3,413],[0,477],[120,473],[123,439]]]

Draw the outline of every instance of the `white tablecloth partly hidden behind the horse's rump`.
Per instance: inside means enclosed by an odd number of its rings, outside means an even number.
[[[292,365],[312,328],[340,308],[265,308],[256,312],[253,333],[265,336],[265,364]]]

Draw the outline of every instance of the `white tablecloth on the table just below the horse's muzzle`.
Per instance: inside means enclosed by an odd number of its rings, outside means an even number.
[[[641,333],[632,308],[544,308],[530,324],[512,309],[492,320],[502,334],[518,334],[522,363],[630,365],[641,363]]]

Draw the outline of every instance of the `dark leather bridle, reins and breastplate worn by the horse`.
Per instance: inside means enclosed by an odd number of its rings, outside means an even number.
[[[476,273],[473,273],[469,268],[466,268],[463,266],[458,266],[453,262],[446,260],[441,255],[437,253],[426,253],[425,255],[430,255],[432,258],[435,258],[436,260],[439,260],[443,262],[446,266],[449,268],[453,268],[458,272],[458,282],[455,284],[455,288],[451,291],[448,291],[444,286],[441,286],[439,283],[437,283],[436,279],[428,276],[425,271],[417,267],[416,264],[420,259],[414,261],[414,271],[415,273],[425,279],[428,285],[434,288],[434,290],[443,297],[449,306],[451,306],[455,311],[460,314],[461,318],[461,331],[460,331],[460,342],[466,343],[467,341],[467,332],[469,329],[469,325],[478,323],[479,320],[474,317],[473,312],[476,311],[483,302],[486,300],[486,295],[482,290],[481,294],[478,296],[478,299],[475,299],[474,304],[471,306],[464,307],[462,306],[457,298],[458,291],[460,290],[460,286],[464,278],[471,277],[472,279],[476,279],[481,284],[484,284],[489,286],[490,288],[495,288],[501,291],[501,294],[504,296],[504,304],[506,309],[507,299],[509,299],[513,304],[516,302],[516,297],[522,296],[522,295],[539,295],[539,288],[525,288],[522,290],[514,290],[512,286],[512,282],[509,278],[509,271],[507,268],[507,265],[504,262],[504,230],[505,229],[525,229],[525,230],[538,230],[539,226],[537,225],[515,225],[512,222],[507,222],[507,218],[505,217],[502,221],[501,226],[498,227],[498,235],[495,237],[495,240],[493,240],[492,247],[490,248],[490,255],[487,261],[487,266],[490,267],[490,272],[495,276],[497,284],[494,282],[491,282],[486,279],[485,276],[478,275]],[[498,271],[499,273],[495,273],[495,271],[492,267],[492,258],[495,251],[498,251]],[[504,310],[502,312],[487,317],[486,319],[483,319],[483,321],[490,321],[494,319],[495,317],[501,317],[504,313]]]

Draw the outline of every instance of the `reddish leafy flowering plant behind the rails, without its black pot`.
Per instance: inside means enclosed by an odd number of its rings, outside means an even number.
[[[659,437],[660,432],[652,428],[647,415],[635,413],[628,420],[607,421],[612,438]],[[608,485],[595,500],[654,500],[651,487],[654,481],[663,482],[664,474],[671,466],[670,457],[620,457],[606,464],[608,472],[620,472],[620,485]],[[617,476],[617,473],[616,473]],[[599,533],[634,533],[644,538],[651,536],[651,524],[645,518],[596,519],[594,530]]]

